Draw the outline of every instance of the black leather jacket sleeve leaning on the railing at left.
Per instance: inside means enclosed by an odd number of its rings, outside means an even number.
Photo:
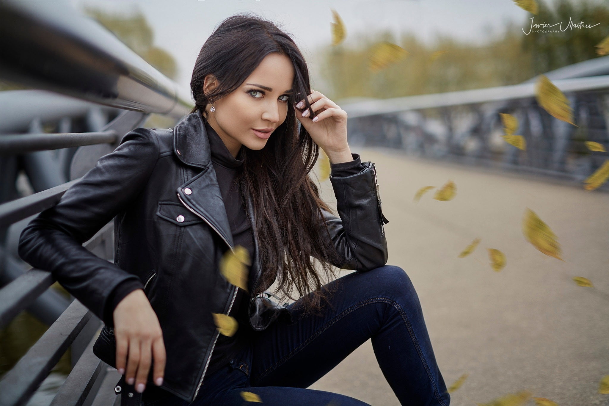
[[[32,267],[50,271],[72,296],[105,323],[104,310],[119,284],[138,276],[102,259],[82,244],[112,220],[146,186],[157,163],[159,145],[151,130],[125,134],[113,152],[102,156],[51,208],[21,232],[19,256]],[[143,288],[143,286],[142,286]]]

